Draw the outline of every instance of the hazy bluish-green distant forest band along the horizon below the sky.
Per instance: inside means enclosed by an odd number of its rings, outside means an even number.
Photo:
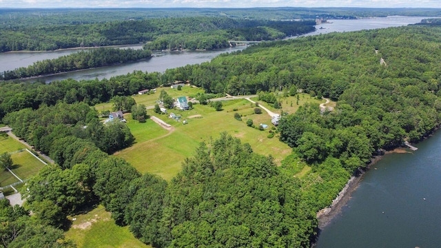
[[[97,8],[0,9],[0,28],[77,25],[171,17],[228,17],[281,21],[292,19],[357,19],[391,15],[438,17],[433,8]]]

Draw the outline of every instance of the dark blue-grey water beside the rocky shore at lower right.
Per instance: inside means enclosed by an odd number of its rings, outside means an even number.
[[[372,165],[315,247],[440,247],[441,132],[417,146]]]

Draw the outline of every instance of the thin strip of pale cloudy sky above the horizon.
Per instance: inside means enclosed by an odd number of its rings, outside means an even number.
[[[441,8],[441,0],[0,0],[0,8]]]

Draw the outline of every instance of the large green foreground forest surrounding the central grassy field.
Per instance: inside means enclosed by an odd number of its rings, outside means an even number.
[[[154,247],[309,247],[316,212],[372,155],[420,141],[441,124],[440,34],[438,25],[332,33],[263,42],[163,74],[1,82],[3,123],[57,162],[28,182],[28,209],[3,218],[16,223],[32,210],[32,221],[56,230],[66,216],[101,203],[116,223]],[[133,142],[130,130],[96,123],[98,113],[88,104],[174,80],[209,94],[258,93],[260,101],[277,102],[300,90],[338,104],[333,111],[307,104],[283,115],[277,136],[293,152],[280,167],[224,133],[201,143],[166,182],[110,156],[122,148],[112,144]],[[107,129],[119,130],[121,141]],[[311,171],[294,177],[304,163]],[[12,235],[14,227],[3,232],[10,244],[23,240]],[[61,242],[53,237],[48,242]]]

